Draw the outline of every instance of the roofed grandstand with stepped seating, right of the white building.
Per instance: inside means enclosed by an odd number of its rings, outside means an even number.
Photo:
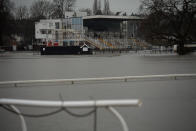
[[[148,44],[136,36],[142,20],[138,16],[86,16],[83,17],[85,36],[100,49],[146,49]]]

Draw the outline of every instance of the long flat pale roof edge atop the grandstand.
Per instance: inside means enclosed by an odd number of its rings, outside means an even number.
[[[85,16],[84,20],[90,19],[113,19],[113,20],[142,20],[143,18],[138,16],[110,16],[110,15],[93,15],[93,16]]]

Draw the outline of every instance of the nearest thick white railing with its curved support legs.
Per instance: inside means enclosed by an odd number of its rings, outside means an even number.
[[[130,100],[92,100],[92,101],[38,101],[38,100],[22,100],[22,99],[5,99],[0,98],[0,105],[7,109],[8,111],[14,112],[20,117],[22,131],[27,131],[26,122],[23,114],[16,106],[28,106],[28,107],[44,107],[44,108],[106,108],[109,110],[118,120],[120,121],[123,131],[128,131],[128,126],[124,118],[114,107],[139,107],[141,106],[141,101],[138,99]],[[7,107],[9,106],[9,107]],[[67,109],[66,109],[67,110]],[[65,111],[66,111],[65,110]],[[94,124],[97,122],[97,111],[94,112]],[[94,126],[94,131],[96,131],[96,126]]]

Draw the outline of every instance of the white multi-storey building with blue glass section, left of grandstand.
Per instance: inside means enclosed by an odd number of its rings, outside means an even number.
[[[35,23],[35,38],[48,46],[77,45],[83,40],[82,17],[47,19]],[[78,41],[75,43],[75,41]]]

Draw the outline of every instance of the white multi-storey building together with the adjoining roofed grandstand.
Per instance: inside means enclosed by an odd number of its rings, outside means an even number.
[[[83,12],[66,12],[64,19],[40,20],[35,24],[35,37],[40,45],[82,46],[102,49],[143,48],[146,43],[136,38],[138,16],[87,16]]]

